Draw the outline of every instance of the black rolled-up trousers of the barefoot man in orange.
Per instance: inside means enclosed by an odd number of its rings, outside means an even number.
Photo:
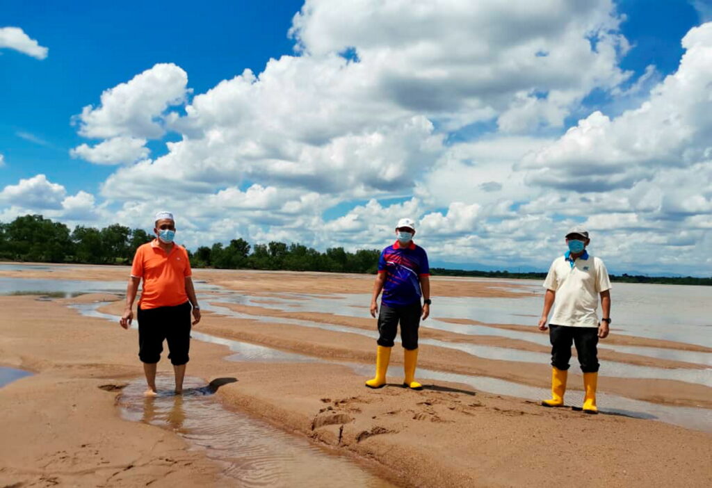
[[[189,361],[190,302],[175,307],[143,310],[138,307],[138,357],[142,362],[155,364],[161,359],[163,341],[168,341],[168,359],[174,366]]]

